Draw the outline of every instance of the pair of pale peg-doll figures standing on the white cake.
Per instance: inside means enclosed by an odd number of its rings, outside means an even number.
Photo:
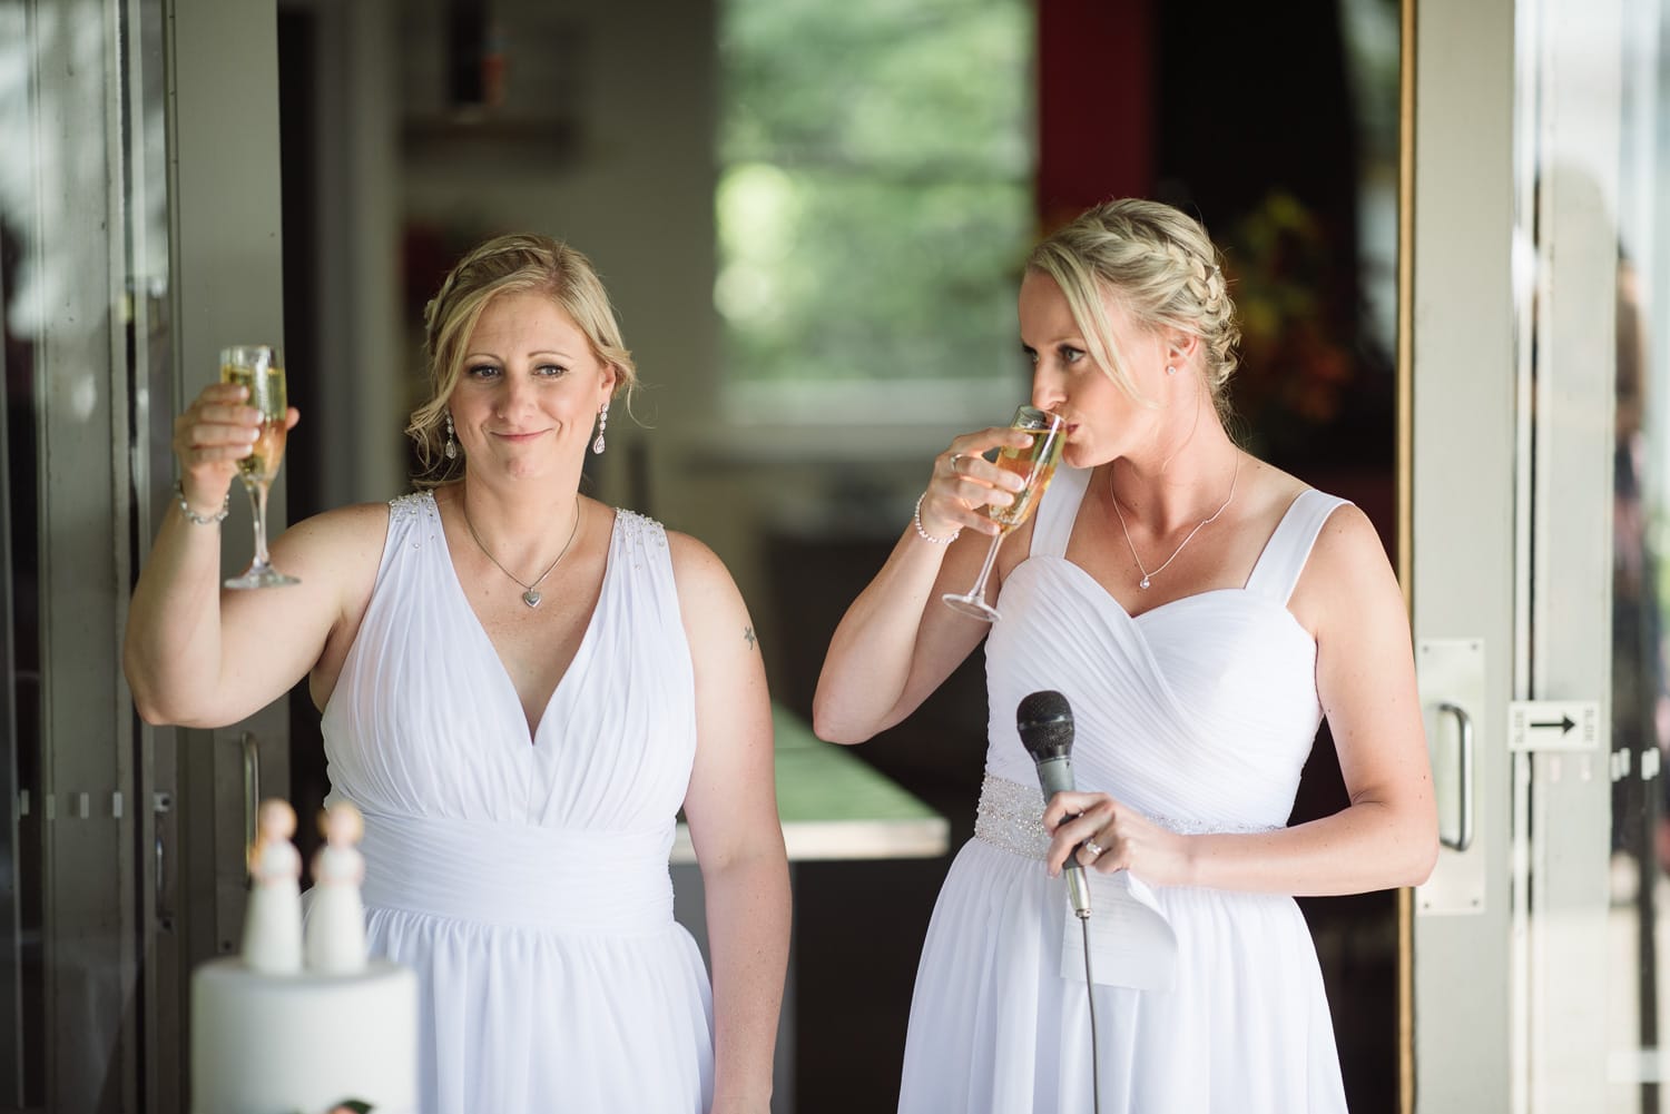
[[[366,967],[366,915],[359,884],[366,875],[356,843],[364,832],[359,810],[337,802],[319,817],[326,842],[312,862],[312,909],[302,929],[301,853],[296,810],[266,800],[249,848],[249,910],[244,919],[244,964],[269,975],[302,970],[347,975]]]

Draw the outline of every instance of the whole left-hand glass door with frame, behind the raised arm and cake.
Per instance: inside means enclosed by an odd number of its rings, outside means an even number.
[[[144,727],[120,645],[180,399],[282,339],[271,5],[0,0],[0,1114],[182,1111],[286,717]]]

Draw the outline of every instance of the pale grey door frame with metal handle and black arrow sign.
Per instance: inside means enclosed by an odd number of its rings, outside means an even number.
[[[1440,827],[1473,825],[1413,895],[1404,1109],[1595,1109],[1625,0],[1409,2],[1404,583]],[[1521,730],[1540,701],[1590,730]]]

